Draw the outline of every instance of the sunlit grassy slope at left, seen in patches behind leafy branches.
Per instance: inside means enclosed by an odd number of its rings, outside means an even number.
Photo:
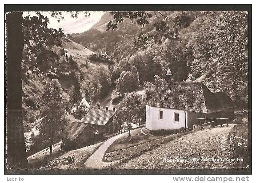
[[[92,74],[97,72],[100,67],[100,62],[93,62],[88,58],[88,56],[94,52],[73,41],[65,41],[62,46],[68,51],[68,56],[72,55],[73,60],[77,64],[77,67],[74,67],[72,72],[83,74],[84,78],[92,78]],[[35,74],[31,70],[26,70],[25,63],[27,59],[29,58],[24,58],[23,60],[24,73],[22,79],[25,132],[29,132],[30,128],[32,128],[32,123],[31,121],[29,122],[29,118],[31,118],[32,115],[37,116],[40,112],[40,97],[45,81],[49,80],[48,76],[45,74]],[[60,64],[63,63],[61,61],[59,62]],[[86,63],[87,68],[82,65]],[[75,82],[73,76],[70,75],[59,74],[57,79],[60,81],[64,91],[67,91]]]

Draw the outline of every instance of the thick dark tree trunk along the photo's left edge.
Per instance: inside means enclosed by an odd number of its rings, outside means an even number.
[[[22,12],[6,14],[6,153],[12,169],[28,166],[22,115],[22,19]]]

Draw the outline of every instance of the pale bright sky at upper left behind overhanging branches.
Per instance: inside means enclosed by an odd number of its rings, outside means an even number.
[[[65,34],[80,33],[90,29],[97,23],[105,12],[90,12],[90,17],[84,17],[84,12],[80,12],[77,18],[71,18],[70,12],[62,12],[65,17],[60,23],[51,16],[51,12],[42,12],[41,14],[47,16],[49,19],[48,27],[60,28],[62,27]],[[36,16],[36,12],[29,12],[30,16]],[[28,16],[28,12],[24,12],[23,16]]]

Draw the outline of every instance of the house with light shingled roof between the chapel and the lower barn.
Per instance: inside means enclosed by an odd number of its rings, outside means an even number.
[[[103,134],[112,130],[113,116],[116,110],[113,108],[109,110],[108,107],[100,109],[90,109],[87,114],[81,119],[81,122],[91,125]]]

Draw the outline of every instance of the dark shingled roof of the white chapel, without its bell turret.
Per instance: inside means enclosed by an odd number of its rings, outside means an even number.
[[[202,82],[168,83],[156,92],[147,105],[196,113],[213,113],[236,107],[226,93],[212,93]]]

